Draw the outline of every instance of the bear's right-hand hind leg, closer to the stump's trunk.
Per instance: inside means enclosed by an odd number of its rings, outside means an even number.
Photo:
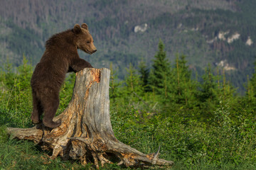
[[[47,98],[45,100],[45,103],[43,103],[43,110],[44,110],[44,115],[43,115],[43,125],[45,125],[48,128],[57,128],[60,124],[61,121],[58,120],[56,122],[53,122],[53,118],[55,116],[55,113],[58,109],[60,101],[58,99],[58,94],[54,95],[53,98]]]

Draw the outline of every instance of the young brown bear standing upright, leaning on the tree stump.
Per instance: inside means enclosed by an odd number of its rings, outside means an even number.
[[[33,94],[33,112],[31,120],[34,124],[41,123],[48,128],[56,128],[61,122],[53,122],[59,105],[60,86],[67,72],[78,72],[92,65],[80,59],[78,49],[92,54],[96,52],[86,23],[81,27],[75,24],[73,29],[53,35],[46,41],[46,51],[36,65],[31,78]]]

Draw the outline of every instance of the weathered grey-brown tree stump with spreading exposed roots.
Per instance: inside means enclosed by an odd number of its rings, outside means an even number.
[[[171,166],[174,162],[143,154],[119,142],[110,123],[109,69],[83,69],[76,74],[73,97],[63,113],[56,116],[61,125],[55,129],[37,125],[33,128],[8,128],[20,140],[33,140],[53,152],[51,159],[80,159],[94,162],[97,169],[113,162],[124,166]]]

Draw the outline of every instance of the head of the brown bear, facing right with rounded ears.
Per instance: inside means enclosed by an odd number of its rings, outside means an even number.
[[[75,33],[75,46],[77,48],[90,55],[97,51],[86,23],[82,23],[81,27],[79,24],[75,24],[73,32]]]

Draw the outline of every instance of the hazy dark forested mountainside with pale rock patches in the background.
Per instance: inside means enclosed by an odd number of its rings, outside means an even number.
[[[186,55],[193,77],[210,64],[244,91],[255,62],[255,8],[254,0],[2,0],[0,62],[18,66],[24,54],[34,65],[50,35],[85,22],[97,53],[80,56],[95,67],[112,62],[119,79],[129,63],[150,67],[161,39],[170,61]]]

